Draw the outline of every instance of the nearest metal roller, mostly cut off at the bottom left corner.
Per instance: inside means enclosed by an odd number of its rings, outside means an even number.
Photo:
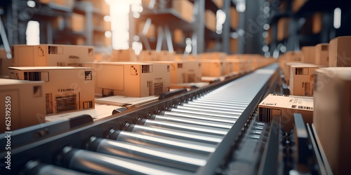
[[[25,175],[85,175],[85,173],[57,167],[55,165],[44,164],[34,160],[27,162],[23,172]]]

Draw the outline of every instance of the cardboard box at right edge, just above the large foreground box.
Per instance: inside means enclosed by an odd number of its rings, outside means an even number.
[[[339,36],[329,41],[329,66],[351,66],[351,36]]]

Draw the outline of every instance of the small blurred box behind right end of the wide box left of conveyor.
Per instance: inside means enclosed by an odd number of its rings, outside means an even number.
[[[142,50],[138,56],[138,61],[171,61],[175,59],[174,53],[166,50]]]

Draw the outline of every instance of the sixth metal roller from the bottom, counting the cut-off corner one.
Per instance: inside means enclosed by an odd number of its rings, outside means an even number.
[[[208,126],[199,126],[199,125],[190,125],[190,124],[183,124],[183,123],[171,123],[166,121],[156,121],[150,119],[142,119],[140,120],[141,124],[150,127],[159,127],[159,128],[171,128],[176,130],[183,130],[183,131],[190,131],[190,132],[198,132],[204,134],[214,134],[223,136],[227,134],[228,130],[221,129],[218,127],[208,127]]]

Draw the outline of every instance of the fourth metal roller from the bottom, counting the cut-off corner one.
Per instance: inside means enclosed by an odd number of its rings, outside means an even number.
[[[111,130],[108,138],[117,141],[126,141],[133,144],[161,146],[166,148],[178,149],[180,151],[202,153],[205,155],[216,151],[216,146],[213,144],[204,144],[197,141],[186,141],[183,139],[174,139],[169,137],[147,136],[135,132],[119,130]]]

